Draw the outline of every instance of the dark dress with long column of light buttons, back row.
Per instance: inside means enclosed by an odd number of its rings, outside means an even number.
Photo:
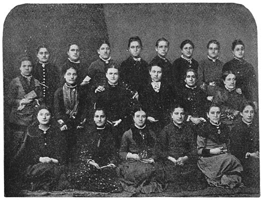
[[[54,93],[59,84],[59,72],[56,66],[52,63],[41,64],[38,62],[34,67],[33,75],[40,83],[48,87],[41,85],[43,90],[43,101],[48,106],[51,106],[51,110],[53,110]]]

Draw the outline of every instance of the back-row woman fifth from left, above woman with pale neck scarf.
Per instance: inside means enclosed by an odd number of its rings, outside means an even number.
[[[163,68],[163,80],[171,84],[172,76],[172,63],[166,58],[166,55],[169,51],[169,41],[164,37],[158,39],[155,44],[155,50],[157,56],[150,62],[150,66],[153,63],[159,63],[160,67]]]

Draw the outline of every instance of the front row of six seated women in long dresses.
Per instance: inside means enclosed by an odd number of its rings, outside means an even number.
[[[251,167],[248,164],[252,162],[259,163],[259,135],[254,113],[254,104],[244,103],[242,119],[233,128],[236,132],[231,134],[220,123],[220,107],[212,104],[207,109],[207,122],[195,135],[180,104],[172,107],[172,120],[161,133],[151,130],[146,123],[147,113],[137,108],[133,111],[134,123],[123,134],[118,151],[112,127],[106,123],[107,113],[97,107],[93,125],[77,135],[73,164],[65,167],[65,134],[58,131],[49,109],[40,106],[38,123],[28,128],[14,162],[26,169],[23,173],[21,170],[21,174],[27,188],[30,186],[32,190],[76,188],[121,192],[124,189],[151,193],[163,191],[168,184],[196,190],[204,185],[204,177],[209,185],[243,187],[241,177],[251,176],[253,170],[259,168],[247,167]],[[257,176],[254,174],[259,178]]]

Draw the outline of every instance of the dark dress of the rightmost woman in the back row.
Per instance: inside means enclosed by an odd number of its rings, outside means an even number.
[[[247,100],[258,101],[258,83],[254,67],[245,60],[233,59],[224,64],[222,72],[234,71],[237,88],[241,88]]]

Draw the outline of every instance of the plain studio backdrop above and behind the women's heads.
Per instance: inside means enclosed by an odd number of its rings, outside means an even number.
[[[170,41],[172,62],[180,56],[184,39],[194,42],[197,61],[206,58],[208,41],[218,39],[224,63],[233,58],[232,41],[240,38],[246,60],[258,72],[257,25],[241,4],[22,4],[10,11],[3,27],[4,94],[20,72],[17,57],[26,51],[36,59],[38,44],[50,47],[51,62],[60,69],[67,59],[67,44],[77,42],[88,67],[97,59],[97,43],[102,39],[109,39],[113,59],[125,60],[128,39],[134,35],[142,39],[141,55],[147,62],[156,55],[155,42],[161,37]]]

